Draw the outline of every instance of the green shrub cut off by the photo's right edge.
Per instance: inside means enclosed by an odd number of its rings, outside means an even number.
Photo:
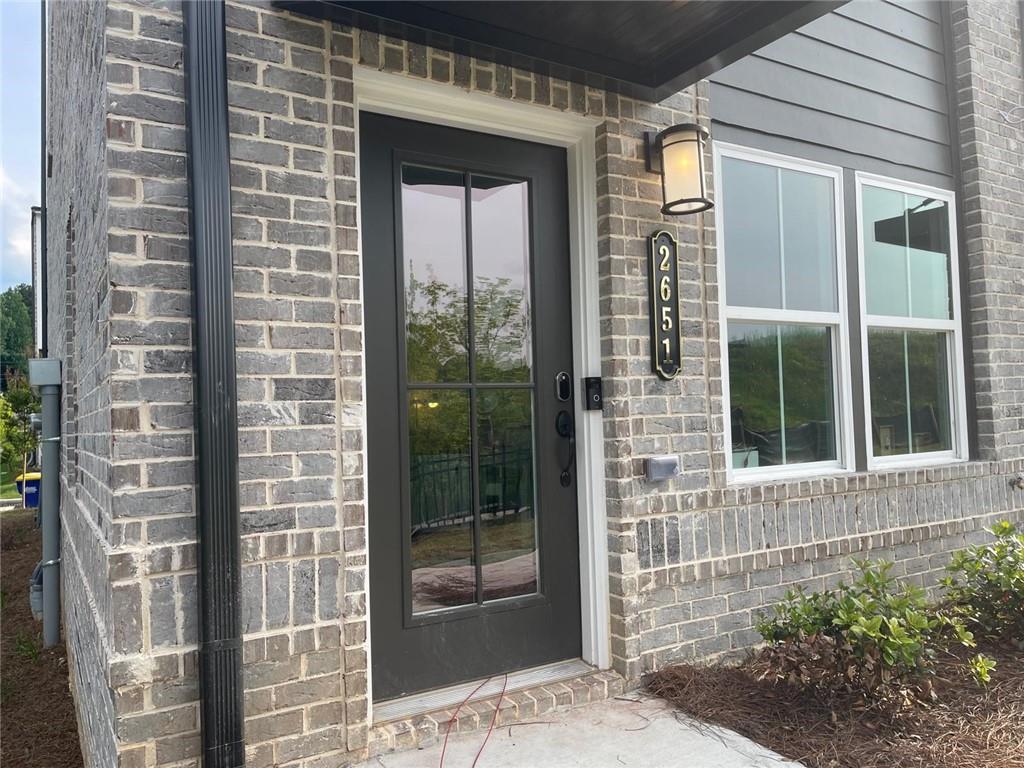
[[[1024,532],[1002,521],[992,534],[994,542],[953,555],[946,598],[978,637],[1024,645]]]

